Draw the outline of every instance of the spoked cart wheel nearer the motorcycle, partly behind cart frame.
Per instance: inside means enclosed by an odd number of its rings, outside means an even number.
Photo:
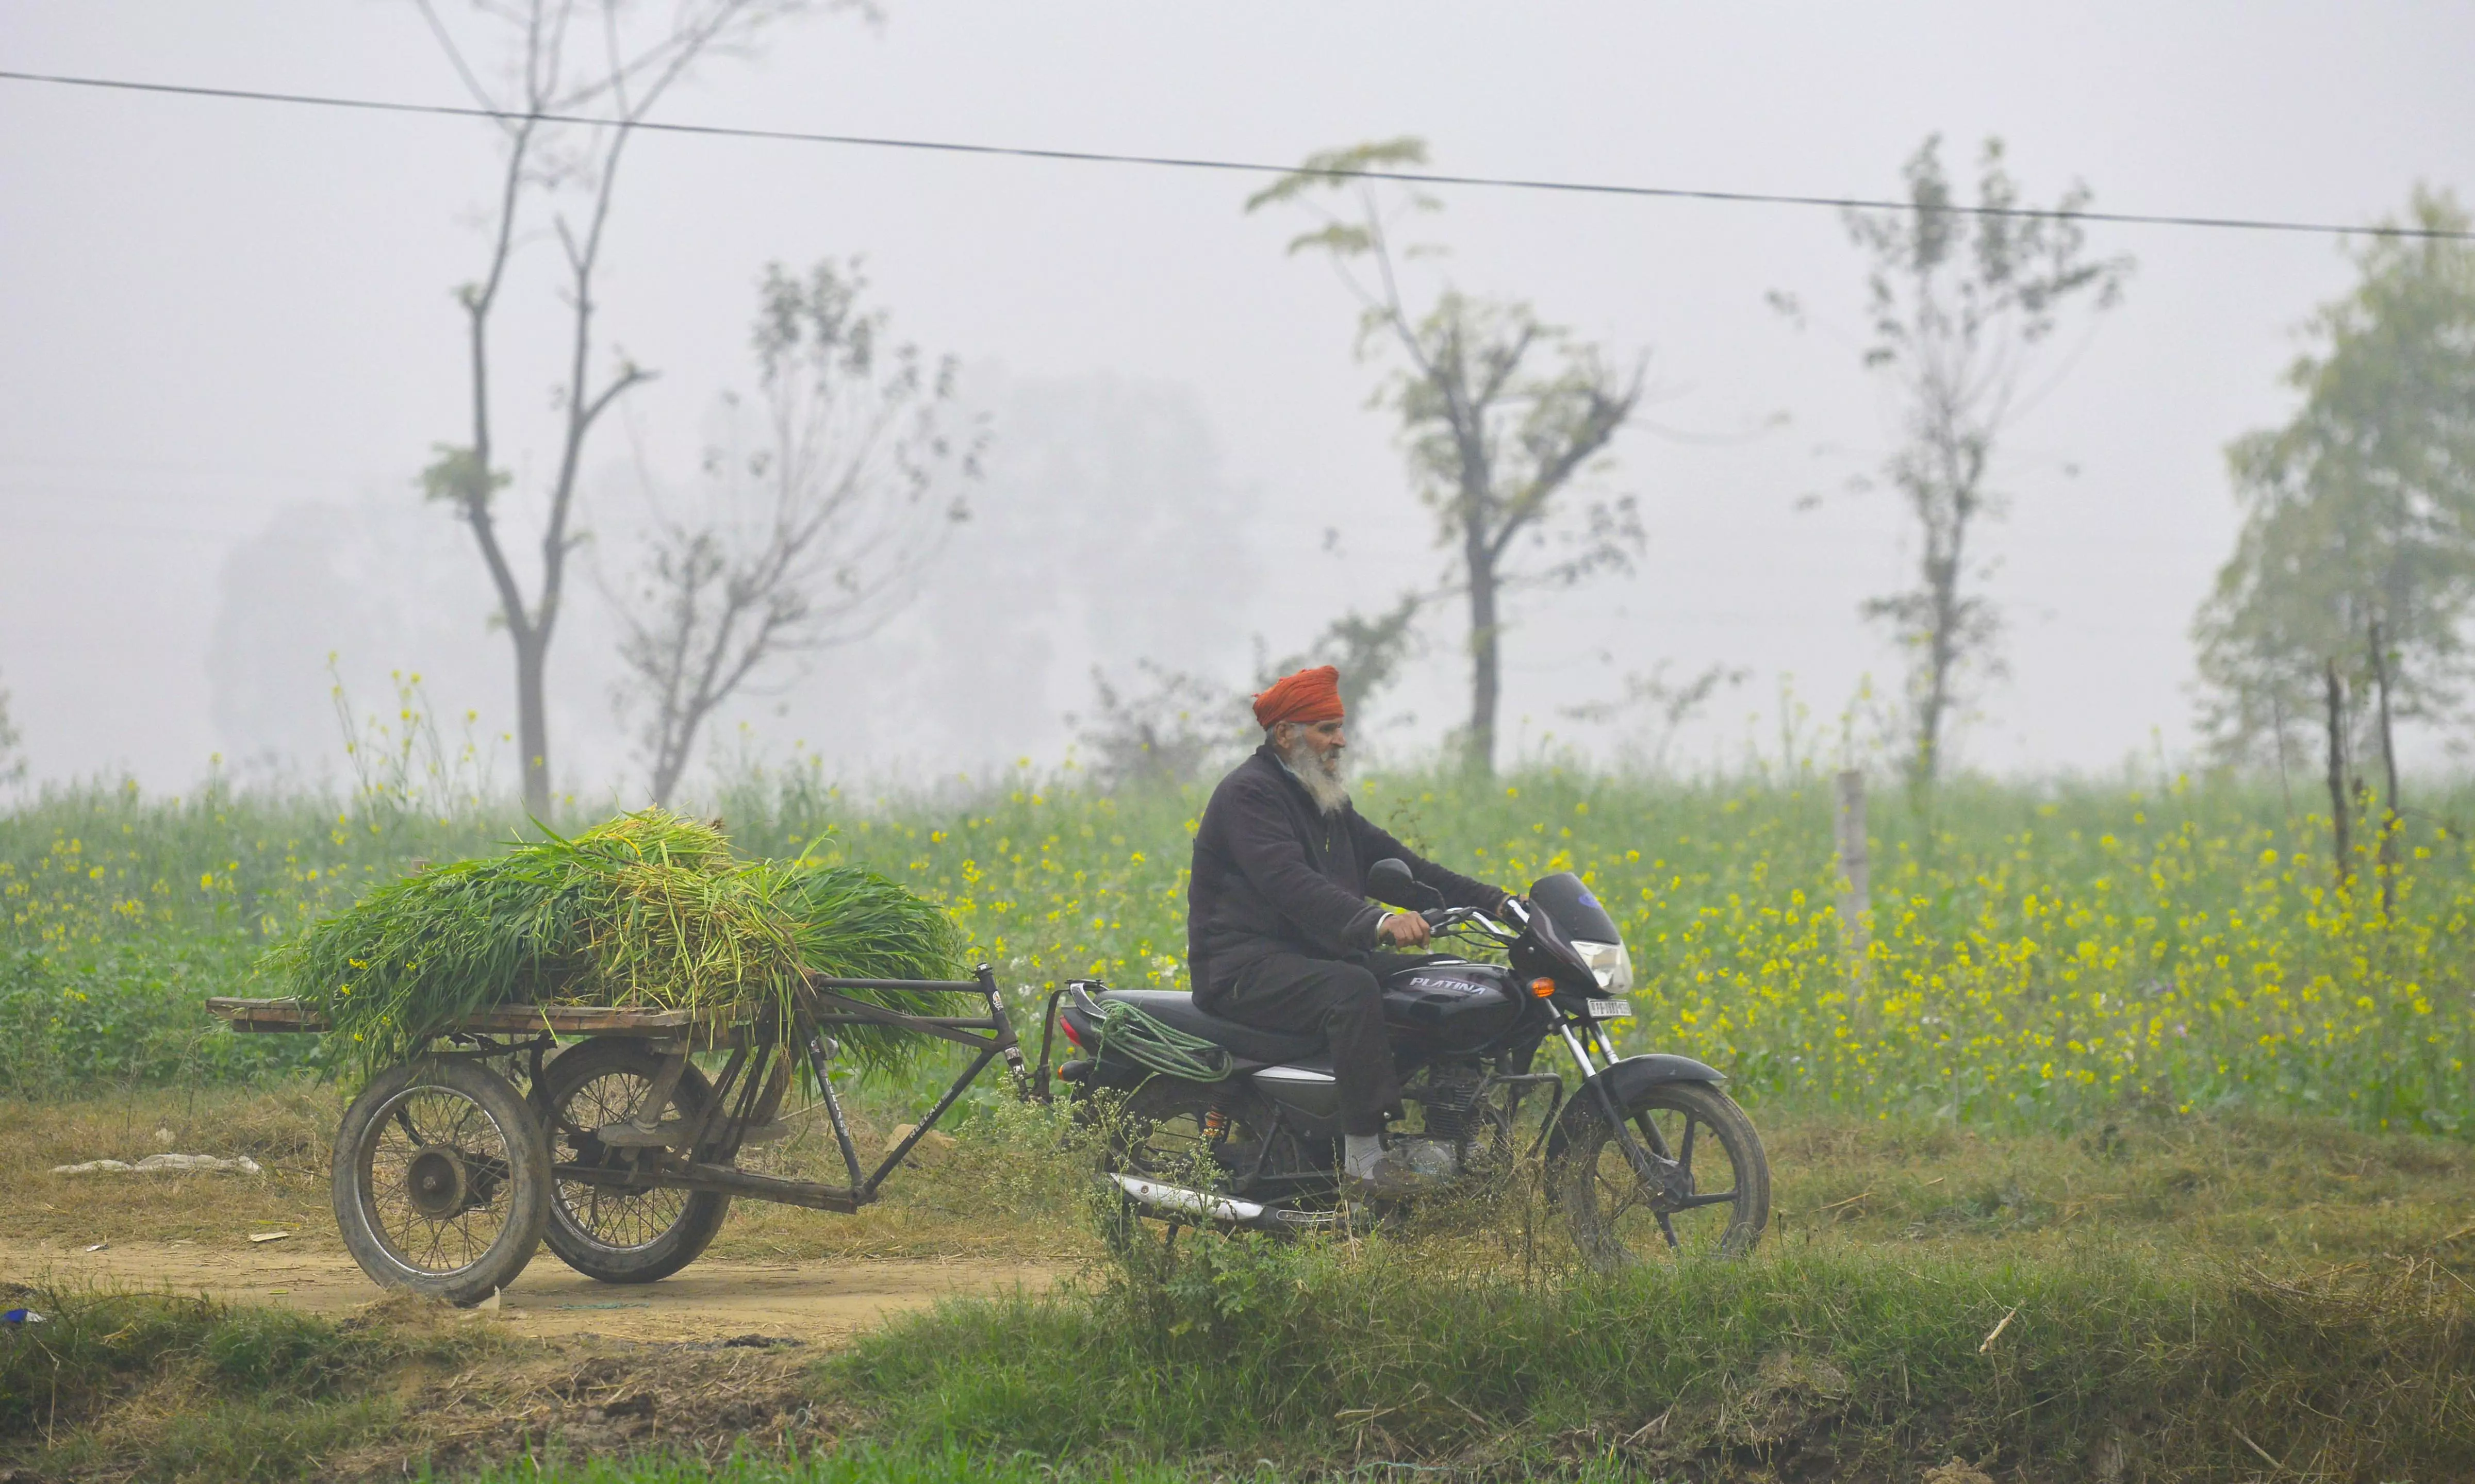
[[[634,1036],[599,1036],[559,1051],[542,1071],[535,1101],[544,1111],[549,1153],[559,1165],[609,1165],[626,1170],[661,1150],[614,1150],[594,1130],[636,1111],[653,1086],[661,1056]],[[678,1073],[666,1115],[695,1120],[713,1101],[713,1083],[691,1061]],[[668,1279],[723,1229],[730,1197],[710,1190],[621,1190],[554,1180],[549,1192],[549,1249],[587,1279],[604,1284],[653,1284]]]

